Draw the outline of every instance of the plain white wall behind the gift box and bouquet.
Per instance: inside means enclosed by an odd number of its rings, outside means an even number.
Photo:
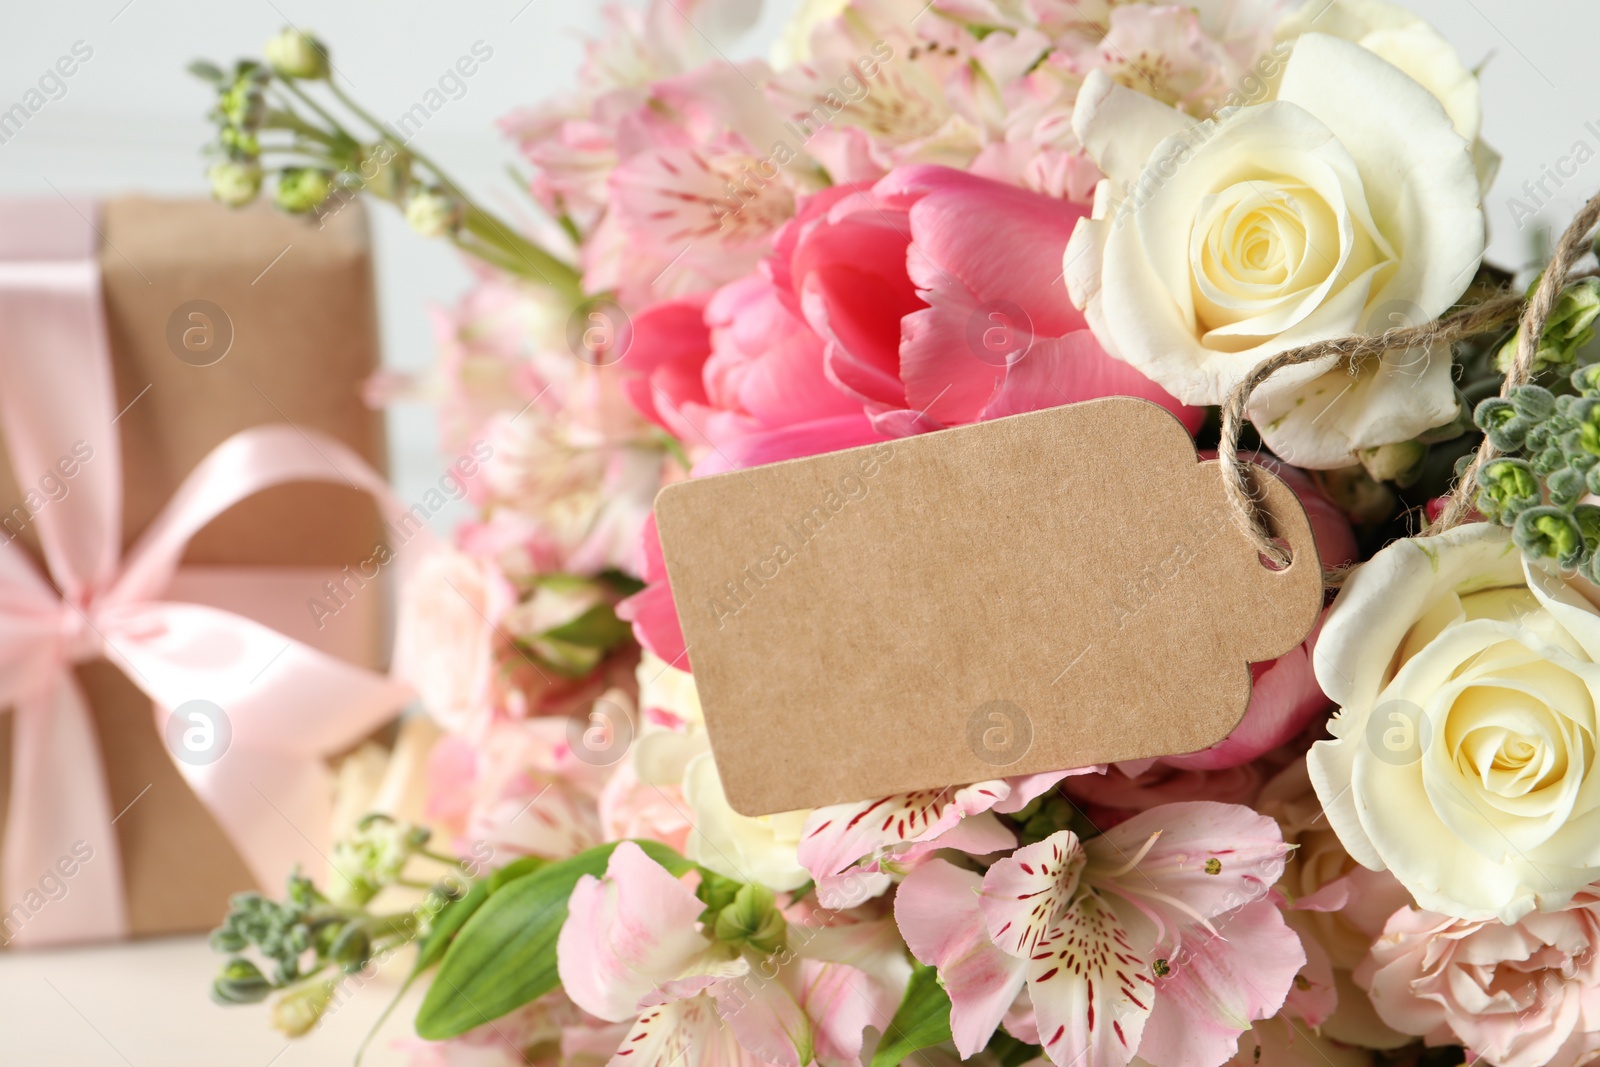
[[[640,3],[642,0],[632,0]],[[757,0],[752,0],[752,3]],[[1469,66],[1483,64],[1485,136],[1506,157],[1490,197],[1491,256],[1522,266],[1538,222],[1518,227],[1509,197],[1555,170],[1578,142],[1600,152],[1600,3],[1594,0],[1406,0],[1450,37]],[[768,0],[750,40],[734,54],[765,54],[792,0]],[[581,40],[598,27],[592,0],[85,0],[14,5],[0,35],[0,110],[35,83],[74,42],[94,58],[22,133],[0,144],[0,195],[120,190],[205,195],[197,149],[210,138],[210,90],[184,72],[206,56],[222,64],[259,54],[293,22],[323,37],[352,94],[392,118],[416,102],[474,42],[494,50],[459,101],[434,115],[416,144],[507,213],[525,203],[504,168],[514,155],[494,118],[563,91]],[[1571,166],[1565,166],[1571,173]],[[1544,226],[1563,226],[1600,189],[1600,158],[1555,192]],[[374,205],[384,358],[421,368],[432,358],[426,309],[467,286],[454,253],[421,240],[394,211]],[[440,474],[430,416],[400,408],[392,469],[402,496]],[[413,496],[416,493],[411,493]]]

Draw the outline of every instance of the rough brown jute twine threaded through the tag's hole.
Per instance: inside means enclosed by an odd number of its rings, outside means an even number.
[[[1600,194],[1595,194],[1584,205],[1584,210],[1578,213],[1578,218],[1562,234],[1562,240],[1555,245],[1555,254],[1550,258],[1550,266],[1546,267],[1531,298],[1523,298],[1514,291],[1501,291],[1486,301],[1462,307],[1421,326],[1397,326],[1379,334],[1336,338],[1333,341],[1317,341],[1298,349],[1288,349],[1258,363],[1243,381],[1234,386],[1222,403],[1222,440],[1218,443],[1218,456],[1222,461],[1222,488],[1227,491],[1227,499],[1234,506],[1245,534],[1269,565],[1282,569],[1290,565],[1291,557],[1283,544],[1272,536],[1269,517],[1261,507],[1261,498],[1250,474],[1251,464],[1238,458],[1238,437],[1245,429],[1245,411],[1250,405],[1250,395],[1262,382],[1288,366],[1301,366],[1334,357],[1334,368],[1344,368],[1349,374],[1355,374],[1368,358],[1381,358],[1395,349],[1430,349],[1435,344],[1448,346],[1461,338],[1486,333],[1517,317],[1520,325],[1517,357],[1512,360],[1510,370],[1506,371],[1506,381],[1501,384],[1499,392],[1501,397],[1509,397],[1512,389],[1533,381],[1534,355],[1539,350],[1541,338],[1544,338],[1544,326],[1549,323],[1562,291],[1571,280],[1578,261],[1589,251],[1589,234],[1597,224],[1600,224]],[[1472,490],[1477,474],[1496,456],[1499,456],[1499,450],[1485,435],[1472,462],[1456,478],[1445,509],[1429,525],[1424,536],[1453,530],[1472,514]],[[1336,585],[1341,577],[1342,574],[1331,573],[1328,584]]]

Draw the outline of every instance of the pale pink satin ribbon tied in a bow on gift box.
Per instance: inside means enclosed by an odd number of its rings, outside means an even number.
[[[75,841],[94,849],[64,899],[13,929],[13,941],[34,945],[128,934],[118,813],[74,664],[106,657],[120,667],[150,696],[158,731],[186,701],[224,710],[226,753],[174,766],[267,888],[325,851],[323,757],[410,699],[403,683],[243,614],[163,600],[189,539],[261,490],[354,485],[397,520],[402,509],[384,480],[333,438],[290,426],[230,437],[123,557],[122,446],[91,216],[93,205],[62,200],[0,205],[0,432],[11,467],[26,491],[78,442],[94,450],[67,494],[32,518],[54,587],[16,542],[0,544],[0,709],[14,715],[0,920]]]

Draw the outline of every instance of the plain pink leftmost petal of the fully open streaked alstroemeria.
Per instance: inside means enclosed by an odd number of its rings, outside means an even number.
[[[933,859],[906,875],[894,893],[894,921],[912,955],[939,968],[950,995],[950,1035],[963,1056],[976,1054],[1022,990],[1026,963],[989,939],[979,909],[982,877]]]

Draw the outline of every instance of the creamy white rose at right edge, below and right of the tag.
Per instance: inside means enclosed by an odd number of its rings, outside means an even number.
[[[1600,611],[1576,582],[1486,523],[1398,541],[1346,582],[1315,664],[1339,712],[1307,763],[1352,857],[1506,923],[1600,878]]]

